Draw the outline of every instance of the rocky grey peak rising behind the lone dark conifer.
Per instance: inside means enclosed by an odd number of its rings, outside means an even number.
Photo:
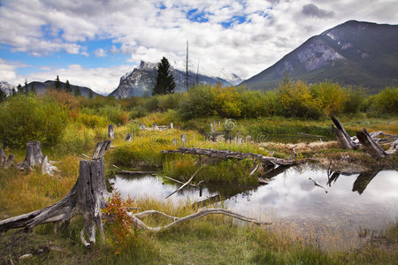
[[[186,90],[185,80],[186,73],[180,70],[170,68],[170,72],[174,76],[176,83],[175,91],[181,92]],[[196,73],[188,72],[189,82],[194,82]],[[198,75],[198,82],[210,85],[218,83],[225,86],[233,86],[241,82],[241,79],[236,74],[229,75],[230,80]],[[119,87],[117,87],[110,95],[116,98],[128,98],[131,96],[152,95],[152,87],[155,86],[157,78],[157,64],[141,61],[137,68],[132,72],[127,72],[120,78]]]

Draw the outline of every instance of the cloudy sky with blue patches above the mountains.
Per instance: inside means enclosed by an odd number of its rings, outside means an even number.
[[[0,81],[68,79],[111,93],[140,64],[167,57],[248,79],[348,20],[398,24],[396,0],[0,0]]]

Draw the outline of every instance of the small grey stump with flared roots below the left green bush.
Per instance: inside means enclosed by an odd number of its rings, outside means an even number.
[[[11,157],[9,156],[9,158]],[[13,158],[14,157],[12,157],[12,160]],[[25,160],[22,163],[18,163],[15,167],[19,170],[33,170],[36,165],[40,165],[42,167],[42,174],[54,176],[55,172],[59,171],[56,166],[49,163],[47,156],[42,155],[42,146],[40,141],[30,140],[27,142]],[[10,166],[10,164],[8,166]]]

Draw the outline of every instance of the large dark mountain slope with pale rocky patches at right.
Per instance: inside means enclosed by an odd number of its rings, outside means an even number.
[[[270,90],[285,74],[309,83],[380,88],[398,85],[398,25],[350,20],[311,37],[276,64],[241,83]]]

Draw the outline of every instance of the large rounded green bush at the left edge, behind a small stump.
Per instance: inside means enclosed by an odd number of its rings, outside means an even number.
[[[67,117],[67,110],[49,98],[12,96],[0,108],[1,140],[11,148],[24,148],[29,140],[51,146],[65,130]]]

